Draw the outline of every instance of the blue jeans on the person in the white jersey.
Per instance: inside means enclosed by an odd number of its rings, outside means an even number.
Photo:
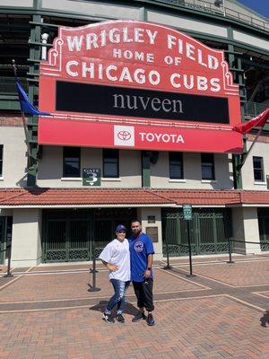
[[[128,289],[128,286],[130,285],[130,282],[123,282],[118,279],[110,279],[110,282],[113,285],[115,293],[109,299],[105,312],[107,314],[111,314],[111,311],[117,304],[117,314],[121,314],[126,307],[125,294],[126,294],[126,290]]]

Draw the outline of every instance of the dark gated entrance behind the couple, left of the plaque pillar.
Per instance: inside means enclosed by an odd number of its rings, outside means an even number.
[[[115,238],[118,223],[128,229],[135,217],[135,208],[44,210],[43,262],[91,260],[94,247],[99,256],[108,241]]]

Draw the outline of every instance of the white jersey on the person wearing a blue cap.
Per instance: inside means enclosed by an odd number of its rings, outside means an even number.
[[[131,279],[129,242],[113,240],[102,250],[100,259],[118,267],[116,271],[109,270],[109,279],[127,282]]]

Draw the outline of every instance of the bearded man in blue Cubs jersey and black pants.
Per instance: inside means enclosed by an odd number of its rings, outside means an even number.
[[[149,326],[154,325],[152,311],[153,305],[153,245],[149,236],[142,232],[141,222],[134,220],[131,223],[132,236],[129,238],[131,258],[131,280],[134,285],[134,293],[137,298],[139,311],[133,318],[133,322],[147,320]],[[148,311],[148,316],[144,314]]]

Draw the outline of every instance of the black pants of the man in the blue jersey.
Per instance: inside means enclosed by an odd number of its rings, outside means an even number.
[[[152,278],[144,280],[143,282],[133,282],[133,285],[138,308],[144,307],[146,311],[154,311]]]

